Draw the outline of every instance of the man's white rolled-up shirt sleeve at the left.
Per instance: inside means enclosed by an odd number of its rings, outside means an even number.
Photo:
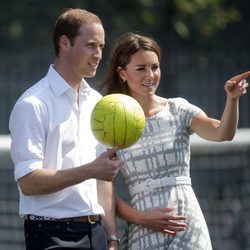
[[[31,100],[32,99],[32,100]],[[43,167],[45,145],[45,109],[35,97],[16,103],[9,122],[11,157],[15,180]]]

